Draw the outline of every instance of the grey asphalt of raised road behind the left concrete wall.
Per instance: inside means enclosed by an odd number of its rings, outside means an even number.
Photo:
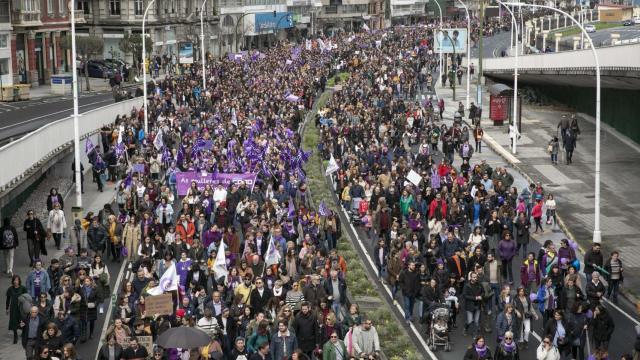
[[[114,103],[110,91],[81,94],[80,113]],[[52,96],[36,100],[0,102],[0,145],[73,113],[73,97]]]

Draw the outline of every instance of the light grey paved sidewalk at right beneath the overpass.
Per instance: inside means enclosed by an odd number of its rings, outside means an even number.
[[[463,79],[464,85],[465,79]],[[450,88],[437,88],[445,99],[445,113],[453,113],[457,102],[465,102],[466,89],[456,88],[456,102]],[[471,88],[475,102],[475,86]],[[557,134],[557,125],[568,111],[553,106],[522,105],[522,134],[517,144],[517,154],[511,153],[508,125],[493,126],[489,116],[489,95],[483,97],[482,125],[484,140],[511,167],[522,173],[528,181],[540,181],[547,192],[554,194],[558,203],[560,227],[567,238],[575,239],[582,250],[590,248],[594,228],[595,188],[595,122],[585,114],[579,114],[581,134],[574,151],[573,163],[565,165],[564,153],[558,155],[559,164],[552,165],[546,152],[547,143]],[[451,115],[449,115],[451,116]],[[562,149],[561,149],[562,150]],[[483,153],[484,155],[484,153]],[[475,155],[474,155],[475,157]],[[640,168],[634,166],[640,160],[638,145],[618,134],[608,126],[601,133],[601,217],[602,245],[605,256],[618,250],[625,267],[624,291],[630,300],[637,299],[640,277]],[[620,176],[624,170],[625,176]],[[515,174],[514,174],[515,175]],[[545,233],[545,239],[549,238]],[[555,240],[555,237],[553,239]],[[565,237],[562,234],[562,237]],[[637,301],[635,301],[637,302]]]

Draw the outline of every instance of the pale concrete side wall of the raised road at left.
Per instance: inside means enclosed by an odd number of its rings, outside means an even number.
[[[133,107],[141,106],[142,98],[139,97],[82,113],[79,117],[80,136],[91,134],[102,126],[113,123],[116,115],[129,114]],[[0,164],[4,166],[0,171],[0,192],[20,182],[30,170],[62,151],[72,141],[73,118],[67,117],[1,147]]]

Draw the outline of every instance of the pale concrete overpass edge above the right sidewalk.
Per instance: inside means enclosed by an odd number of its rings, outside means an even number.
[[[603,88],[640,90],[640,42],[597,50]],[[477,64],[477,59],[472,62]],[[533,85],[595,87],[595,61],[591,49],[532,54],[518,58],[519,80]],[[514,58],[483,59],[486,77],[512,81]]]

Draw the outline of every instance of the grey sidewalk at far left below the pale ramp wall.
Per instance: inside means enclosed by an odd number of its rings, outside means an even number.
[[[62,180],[62,179],[60,179]],[[65,179],[66,180],[66,179]],[[44,181],[43,183],[46,183]],[[62,184],[67,184],[68,181],[62,181]],[[113,200],[115,196],[115,185],[106,184],[104,188],[104,192],[98,192],[97,185],[91,182],[91,172],[89,171],[85,174],[85,193],[82,194],[82,202],[83,202],[83,216],[88,211],[93,211],[95,214],[98,213],[100,209],[104,206],[105,203],[109,203]],[[64,195],[65,189],[60,189],[60,192]],[[27,202],[32,204],[38,204],[37,208],[35,208],[35,213],[37,214],[40,221],[42,221],[43,226],[47,226],[46,217],[44,214],[46,213],[46,196],[49,193],[49,188],[47,184],[43,184],[43,186],[39,186],[36,191],[34,191],[29,200]],[[38,199],[40,199],[38,201]],[[75,188],[72,189],[69,196],[65,199],[64,204],[64,213],[65,218],[67,220],[67,234],[71,231],[71,227],[73,226],[73,216],[71,214],[71,207],[75,205]],[[20,275],[22,278],[22,283],[25,284],[27,275],[31,268],[29,268],[29,254],[27,252],[27,240],[24,231],[22,231],[22,223],[24,222],[24,216],[26,211],[22,211],[22,213],[18,213],[12,219],[13,226],[18,230],[18,239],[20,241],[19,247],[15,250],[14,256],[14,266],[13,273]],[[43,261],[43,267],[48,268],[53,258],[59,258],[64,254],[64,248],[70,245],[69,236],[62,239],[62,250],[56,250],[53,240],[47,241],[47,252],[48,256],[41,256],[40,258]],[[75,245],[74,245],[75,248]],[[2,268],[4,269],[4,260],[2,260]],[[117,274],[116,274],[117,275]],[[0,277],[0,290],[2,290],[2,295],[6,289],[10,286],[10,279],[6,275],[2,275]],[[4,296],[3,296],[4,303]],[[18,344],[13,344],[13,333],[7,331],[7,324],[9,323],[9,316],[4,311],[0,311],[0,324],[2,324],[2,330],[0,331],[0,359],[24,359],[24,349],[20,343],[20,339],[18,339]],[[18,332],[20,334],[20,332]],[[86,351],[86,349],[84,349]],[[95,350],[94,350],[95,351]],[[80,353],[80,355],[87,355]],[[85,358],[86,356],[83,356]]]

